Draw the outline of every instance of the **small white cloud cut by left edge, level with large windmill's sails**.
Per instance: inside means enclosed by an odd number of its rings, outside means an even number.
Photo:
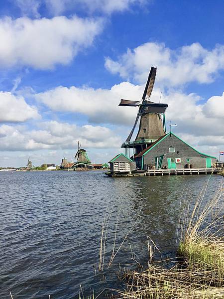
[[[39,117],[36,107],[29,106],[23,97],[0,92],[0,122],[24,122]]]

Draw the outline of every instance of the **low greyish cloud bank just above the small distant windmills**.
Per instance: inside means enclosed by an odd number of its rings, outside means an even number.
[[[0,150],[76,149],[82,141],[85,148],[116,148],[121,140],[112,130],[102,126],[82,127],[56,121],[41,124],[38,130],[24,126],[0,126]]]

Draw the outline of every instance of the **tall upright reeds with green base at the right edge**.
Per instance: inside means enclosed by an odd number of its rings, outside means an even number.
[[[180,244],[178,255],[184,258],[189,270],[197,271],[204,283],[224,285],[224,211],[223,183],[203,205],[207,185],[200,192],[193,210],[183,202],[180,210]]]

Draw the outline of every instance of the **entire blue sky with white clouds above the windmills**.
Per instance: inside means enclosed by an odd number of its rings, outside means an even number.
[[[0,167],[122,152],[151,66],[167,127],[224,151],[223,0],[0,1]]]

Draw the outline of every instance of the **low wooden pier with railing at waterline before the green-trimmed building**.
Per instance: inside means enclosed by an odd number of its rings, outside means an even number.
[[[183,168],[183,169],[148,169],[148,170],[135,170],[130,173],[125,172],[107,172],[108,176],[156,176],[156,175],[199,175],[199,174],[217,174],[221,170],[219,168]]]

